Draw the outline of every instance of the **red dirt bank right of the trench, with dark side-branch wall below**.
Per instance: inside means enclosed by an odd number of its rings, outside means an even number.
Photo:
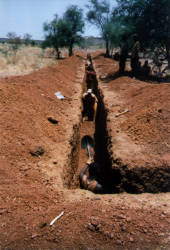
[[[107,110],[108,147],[113,180],[115,173],[119,178],[117,189],[170,191],[170,84],[120,76],[118,64],[111,59],[97,57],[94,61]]]

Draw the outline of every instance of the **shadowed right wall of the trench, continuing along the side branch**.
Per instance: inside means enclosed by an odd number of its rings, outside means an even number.
[[[170,166],[163,163],[160,166],[149,167],[146,165],[132,167],[114,157],[112,149],[113,134],[111,133],[111,118],[100,82],[95,61],[94,69],[98,82],[97,97],[100,103],[100,114],[96,121],[96,161],[100,162],[101,179],[105,190],[108,193],[129,192],[129,193],[159,193],[170,191]]]

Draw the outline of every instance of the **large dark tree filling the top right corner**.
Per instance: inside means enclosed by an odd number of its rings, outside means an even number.
[[[117,0],[114,14],[131,25],[144,47],[166,50],[170,67],[170,1],[169,0]],[[131,32],[131,33],[132,33]]]

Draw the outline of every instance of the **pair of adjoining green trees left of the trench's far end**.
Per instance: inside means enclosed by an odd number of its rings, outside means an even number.
[[[51,23],[44,24],[46,34],[43,47],[53,47],[59,52],[59,48],[68,47],[69,56],[73,53],[73,46],[82,41],[84,20],[83,12],[76,5],[70,6],[62,18],[56,15]]]

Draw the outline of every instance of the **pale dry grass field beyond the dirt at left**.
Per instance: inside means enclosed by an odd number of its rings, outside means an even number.
[[[0,44],[0,77],[23,75],[56,64],[52,49],[21,45],[19,48]]]

